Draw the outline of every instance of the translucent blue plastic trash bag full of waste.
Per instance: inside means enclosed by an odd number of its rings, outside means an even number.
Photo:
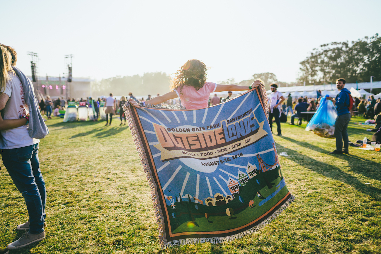
[[[329,95],[322,97],[319,108],[309,121],[306,131],[312,131],[320,137],[335,138],[336,107],[327,100]]]

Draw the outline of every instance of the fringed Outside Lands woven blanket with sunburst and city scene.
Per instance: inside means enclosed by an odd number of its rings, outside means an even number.
[[[197,110],[125,104],[162,248],[238,239],[294,200],[280,170],[263,90]]]

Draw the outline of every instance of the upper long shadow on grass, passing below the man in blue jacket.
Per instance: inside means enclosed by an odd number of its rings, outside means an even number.
[[[286,139],[290,142],[293,142],[295,144],[298,144],[300,146],[306,147],[308,149],[312,149],[314,151],[320,152],[320,153],[328,153],[329,151],[322,149],[316,145],[312,145],[307,142],[297,141],[295,139],[291,139],[290,137],[280,136],[283,139]],[[358,157],[356,155],[333,155],[333,156],[339,156],[340,158],[343,158],[343,160],[348,161],[349,167],[351,168],[351,171],[362,174],[363,176],[366,176],[371,179],[375,179],[377,181],[381,181],[381,172],[379,169],[381,168],[381,163],[377,163],[375,161],[367,160],[365,158]]]

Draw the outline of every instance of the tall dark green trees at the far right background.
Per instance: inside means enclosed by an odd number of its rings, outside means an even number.
[[[378,34],[352,43],[331,42],[314,48],[301,61],[298,81],[306,85],[335,83],[345,78],[347,83],[381,80],[381,37]]]

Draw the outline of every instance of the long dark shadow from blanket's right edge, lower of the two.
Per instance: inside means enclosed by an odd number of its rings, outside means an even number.
[[[362,193],[365,193],[367,195],[370,195],[375,200],[377,201],[381,200],[380,189],[363,184],[362,182],[359,181],[359,179],[357,179],[354,176],[351,176],[348,173],[345,173],[338,167],[332,166],[330,164],[327,164],[321,161],[317,161],[311,157],[295,152],[294,150],[285,148],[279,144],[277,145],[277,150],[278,152],[287,152],[289,155],[293,155],[293,156],[287,157],[287,159],[294,161],[295,163],[298,163],[299,165],[305,168],[315,171],[316,173],[319,173],[323,176],[330,177],[331,179],[352,185],[356,190]],[[346,155],[338,155],[338,156],[345,158]]]

